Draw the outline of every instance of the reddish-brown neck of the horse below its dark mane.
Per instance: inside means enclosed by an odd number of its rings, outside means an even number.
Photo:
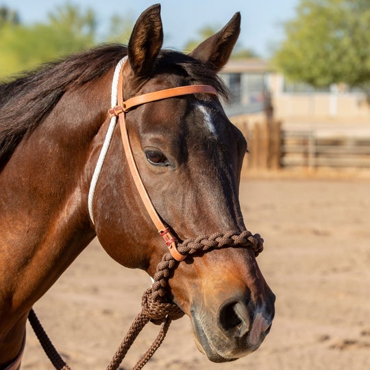
[[[67,91],[0,173],[0,312],[29,310],[95,236],[88,181],[110,78]]]

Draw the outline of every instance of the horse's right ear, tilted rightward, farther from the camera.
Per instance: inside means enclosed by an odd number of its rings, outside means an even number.
[[[240,13],[237,12],[229,23],[194,49],[190,56],[193,58],[210,62],[214,71],[219,72],[229,60],[234,49],[236,40],[240,34]]]

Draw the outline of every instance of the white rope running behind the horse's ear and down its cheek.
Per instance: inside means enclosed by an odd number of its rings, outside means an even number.
[[[111,95],[111,100],[110,100],[111,107],[114,107],[117,105],[119,72],[121,71],[121,67],[126,60],[127,60],[127,56],[125,56],[118,62],[118,64],[116,65],[116,69],[114,70],[113,81],[112,81],[112,95]],[[99,158],[95,166],[93,178],[91,179],[90,189],[88,190],[88,213],[90,214],[90,219],[93,223],[94,223],[93,200],[94,200],[95,187],[97,186],[97,180],[99,179],[101,167],[103,167],[103,162],[106,159],[106,154],[109,149],[110,141],[112,140],[114,127],[116,127],[116,122],[117,122],[117,117],[112,116],[112,118],[110,119],[106,138],[104,139],[104,143],[103,143],[103,146],[101,147]]]

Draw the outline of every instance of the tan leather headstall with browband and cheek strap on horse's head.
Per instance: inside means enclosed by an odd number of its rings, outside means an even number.
[[[154,225],[164,238],[164,241],[169,247],[169,251],[173,258],[177,261],[182,261],[186,258],[183,254],[180,254],[177,251],[176,241],[177,239],[171,234],[171,231],[167,225],[164,225],[162,219],[160,218],[156,208],[154,208],[153,203],[151,203],[151,199],[149,194],[147,193],[147,189],[143,184],[143,180],[141,180],[140,173],[138,172],[138,167],[136,166],[136,162],[134,159],[134,155],[132,153],[132,148],[130,145],[130,138],[127,133],[126,121],[125,121],[125,114],[130,110],[130,108],[134,108],[135,106],[140,106],[141,104],[149,103],[151,101],[158,101],[162,99],[168,99],[171,97],[178,97],[181,95],[189,95],[189,94],[197,94],[197,93],[206,93],[217,96],[217,90],[210,85],[189,85],[189,86],[180,86],[177,88],[169,88],[166,90],[159,90],[153,93],[138,95],[137,97],[132,97],[131,99],[127,99],[127,101],[123,101],[123,69],[125,67],[125,63],[121,68],[121,73],[119,75],[119,86],[118,86],[118,105],[109,110],[110,116],[119,116],[119,125],[121,128],[121,136],[123,142],[123,149],[125,149],[125,155],[127,158],[127,162],[130,167],[130,171],[132,173],[132,177],[134,179],[134,183],[136,188],[138,189],[138,193],[140,194],[141,199],[143,200],[144,206],[149,213],[151,220],[153,221]]]

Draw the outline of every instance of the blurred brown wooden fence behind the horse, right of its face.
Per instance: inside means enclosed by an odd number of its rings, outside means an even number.
[[[248,142],[245,171],[319,167],[370,169],[370,134],[282,130],[278,121],[234,122]]]

